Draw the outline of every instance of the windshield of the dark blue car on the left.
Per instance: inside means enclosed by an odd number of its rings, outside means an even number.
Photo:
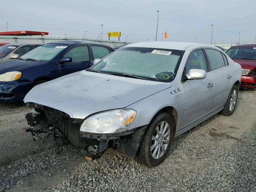
[[[59,52],[67,48],[66,44],[58,43],[49,43],[41,45],[30,52],[24,54],[22,59],[34,59],[40,61],[50,61],[52,60]]]

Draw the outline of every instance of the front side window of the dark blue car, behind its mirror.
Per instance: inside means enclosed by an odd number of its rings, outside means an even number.
[[[71,57],[72,62],[90,61],[88,46],[77,46],[69,50],[63,57]]]

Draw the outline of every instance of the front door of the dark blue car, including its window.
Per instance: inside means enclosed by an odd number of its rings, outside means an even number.
[[[60,76],[87,69],[93,64],[90,59],[88,45],[75,46],[62,57],[71,57],[72,62],[59,64]]]

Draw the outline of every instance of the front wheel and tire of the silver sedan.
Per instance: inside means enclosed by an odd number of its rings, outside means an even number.
[[[166,124],[168,124],[168,126],[166,128],[166,131],[164,132],[164,126],[166,126]],[[163,125],[162,133],[164,132],[162,136],[166,135],[168,133],[168,130],[170,131],[168,136],[165,136],[163,138],[160,137],[161,125]],[[159,133],[157,132],[157,128],[160,131]],[[153,135],[154,135],[154,140],[152,137]],[[141,146],[138,149],[137,155],[135,156],[135,160],[140,162],[141,164],[144,164],[150,167],[154,167],[162,163],[166,158],[166,155],[168,154],[168,151],[171,147],[173,137],[174,137],[173,117],[166,112],[160,112],[151,120],[150,124],[148,124],[148,127],[142,138]],[[166,140],[168,140],[168,143],[166,143]],[[155,145],[156,147],[154,147],[153,150],[150,150],[150,147],[153,147],[153,145]],[[160,152],[158,152],[159,148],[160,148]],[[155,150],[157,151],[156,154],[154,154]]]

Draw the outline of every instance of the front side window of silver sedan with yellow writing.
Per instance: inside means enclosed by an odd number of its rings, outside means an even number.
[[[184,68],[184,75],[188,74],[190,69],[202,69],[208,72],[203,50],[196,50],[190,54]]]

